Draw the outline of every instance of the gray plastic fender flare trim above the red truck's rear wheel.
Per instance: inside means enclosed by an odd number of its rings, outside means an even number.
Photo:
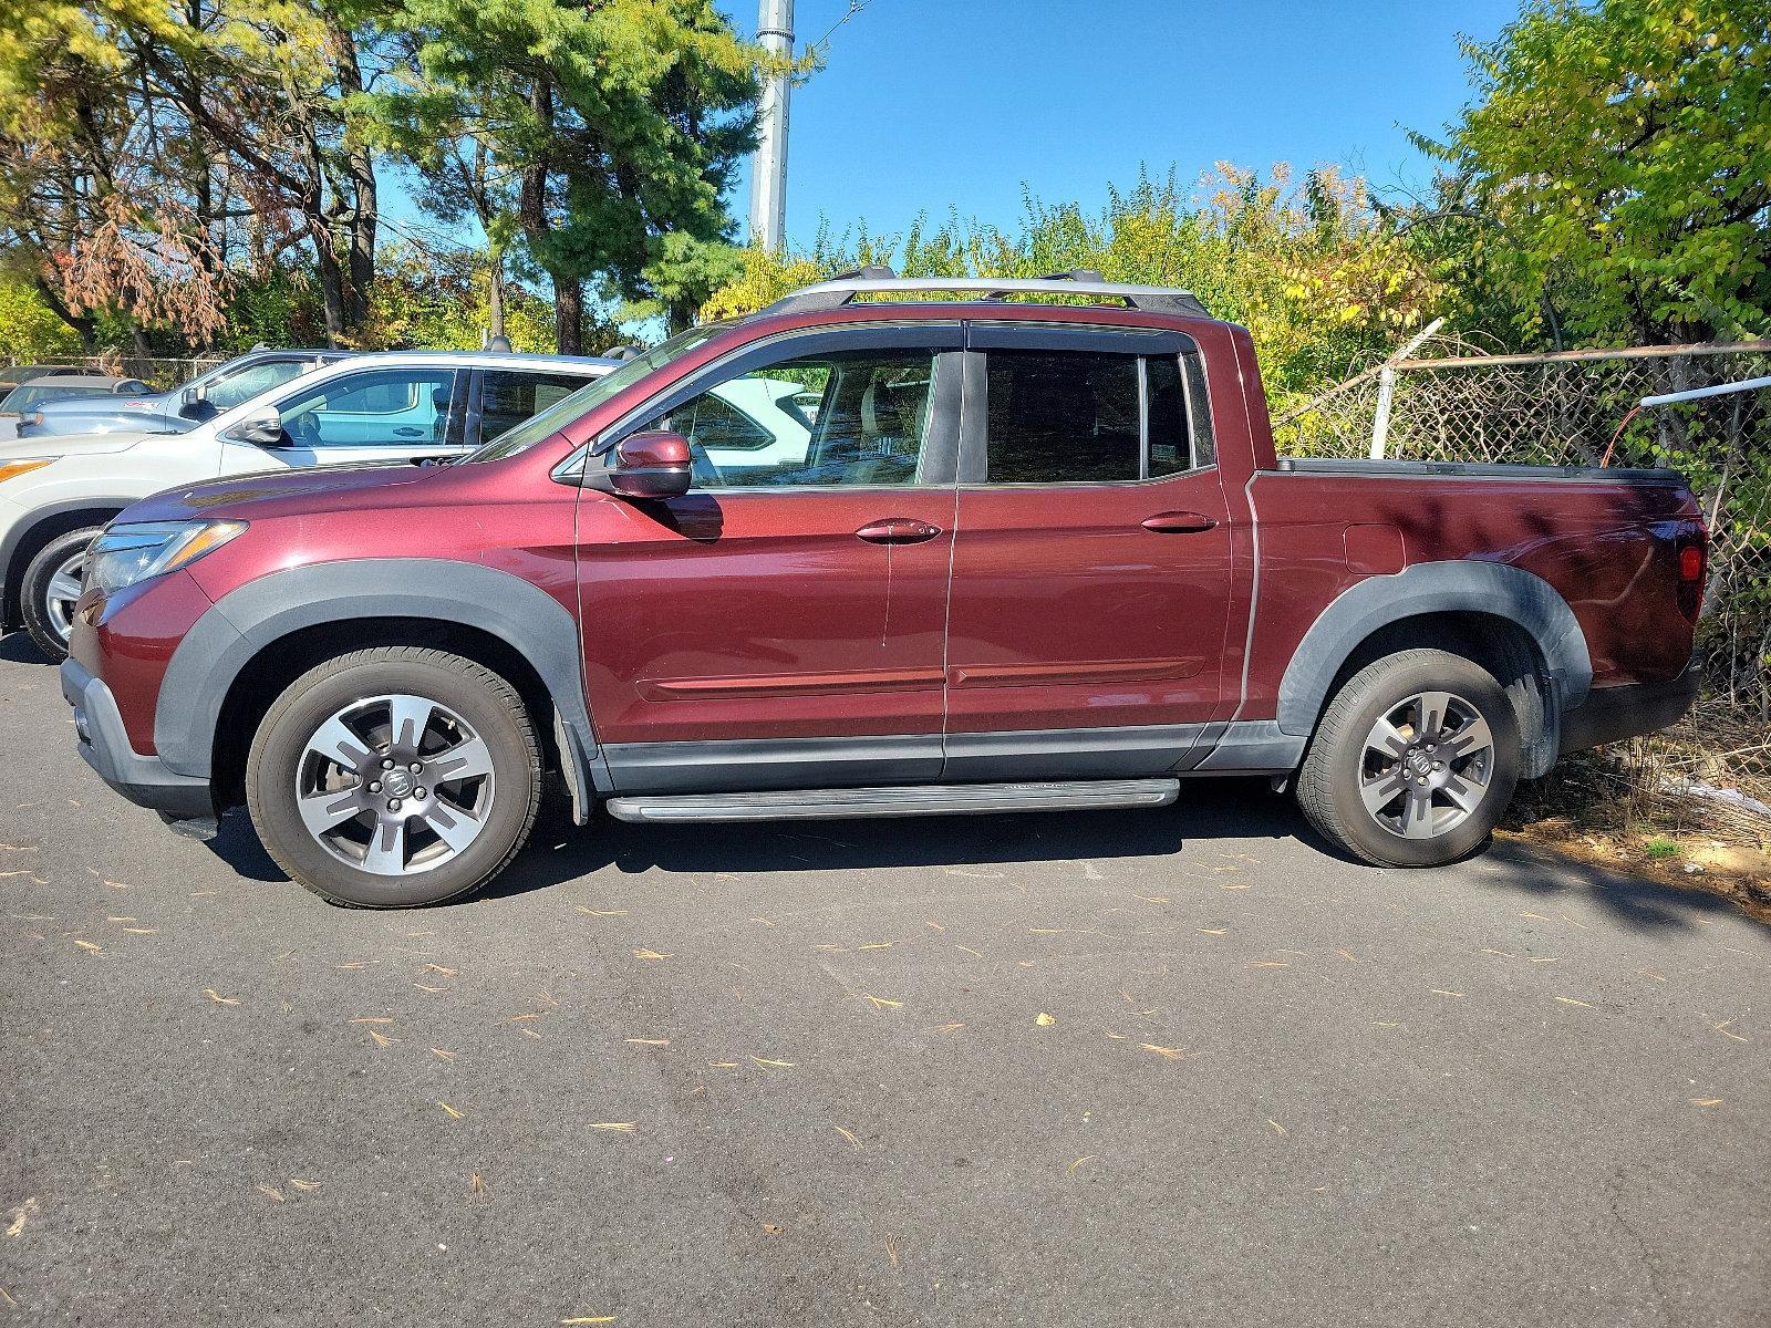
[[[1592,657],[1567,602],[1543,577],[1505,563],[1415,563],[1365,577],[1323,609],[1279,683],[1279,728],[1309,737],[1341,666],[1373,632],[1427,613],[1488,613],[1523,627],[1544,657],[1560,710],[1587,699]]]

